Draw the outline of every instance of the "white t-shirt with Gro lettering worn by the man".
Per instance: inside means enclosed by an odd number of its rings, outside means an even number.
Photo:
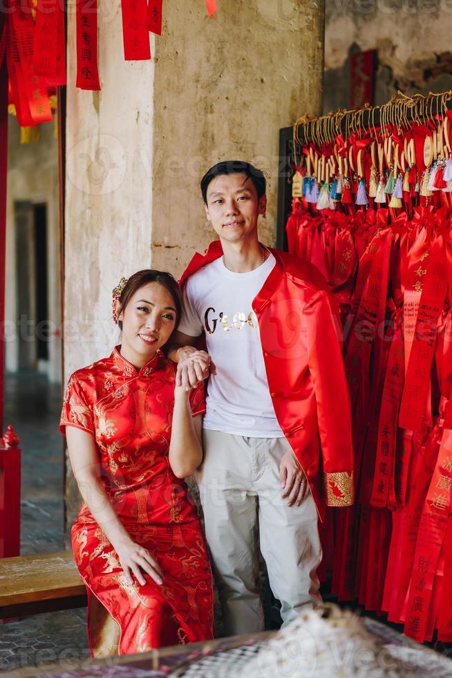
[[[198,337],[205,332],[207,351],[217,374],[209,378],[203,426],[256,438],[279,438],[252,302],[276,264],[272,254],[254,271],[234,273],[223,257],[189,277],[178,329]]]

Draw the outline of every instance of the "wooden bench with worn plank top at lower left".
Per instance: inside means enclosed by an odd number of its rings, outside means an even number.
[[[0,559],[0,619],[86,605],[70,551]]]

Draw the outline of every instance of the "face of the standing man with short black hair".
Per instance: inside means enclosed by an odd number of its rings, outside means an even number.
[[[246,174],[221,174],[207,187],[207,219],[222,240],[257,239],[258,216],[265,214],[266,208],[267,197],[258,199]]]

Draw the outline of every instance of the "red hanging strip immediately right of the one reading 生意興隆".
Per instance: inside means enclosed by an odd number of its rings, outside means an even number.
[[[126,61],[150,59],[147,0],[122,0],[121,9],[124,59]]]

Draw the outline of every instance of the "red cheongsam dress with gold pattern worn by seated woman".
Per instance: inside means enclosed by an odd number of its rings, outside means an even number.
[[[70,377],[60,429],[91,435],[102,483],[131,538],[158,561],[164,582],[126,582],[117,553],[82,504],[72,529],[75,562],[88,592],[93,656],[144,652],[211,639],[212,577],[196,508],[169,465],[176,367],[160,351],[140,371],[116,347]],[[205,411],[191,394],[193,416]]]

